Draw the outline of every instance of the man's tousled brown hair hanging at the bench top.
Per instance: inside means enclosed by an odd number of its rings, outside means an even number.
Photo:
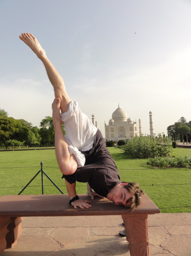
[[[136,182],[121,182],[121,183],[128,183],[127,185],[124,186],[126,190],[131,193],[132,197],[130,197],[126,204],[125,207],[131,211],[134,211],[137,206],[141,202],[141,197],[144,194],[144,191],[139,188],[139,184]]]

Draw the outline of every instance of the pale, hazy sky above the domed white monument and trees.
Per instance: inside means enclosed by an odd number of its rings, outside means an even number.
[[[105,137],[119,106],[143,134],[191,120],[190,0],[0,0],[0,108],[33,126],[52,116],[52,85],[19,39],[33,33],[71,99]],[[138,124],[139,125],[139,124]]]

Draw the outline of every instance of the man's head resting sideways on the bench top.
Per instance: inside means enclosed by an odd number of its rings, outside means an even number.
[[[140,203],[144,191],[139,189],[136,182],[121,182],[114,186],[107,194],[107,198],[116,205],[121,205],[133,211]]]

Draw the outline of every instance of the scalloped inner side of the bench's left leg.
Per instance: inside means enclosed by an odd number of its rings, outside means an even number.
[[[17,239],[19,238],[22,232],[21,222],[23,221],[23,218],[10,217],[10,219],[11,222],[7,226],[8,233],[5,236],[6,249],[12,248],[17,243]]]

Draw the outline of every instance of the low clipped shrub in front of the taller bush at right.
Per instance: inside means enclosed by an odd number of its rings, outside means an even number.
[[[188,157],[188,155],[185,157],[155,157],[153,159],[149,159],[146,164],[160,168],[188,168],[191,167],[191,157]]]

